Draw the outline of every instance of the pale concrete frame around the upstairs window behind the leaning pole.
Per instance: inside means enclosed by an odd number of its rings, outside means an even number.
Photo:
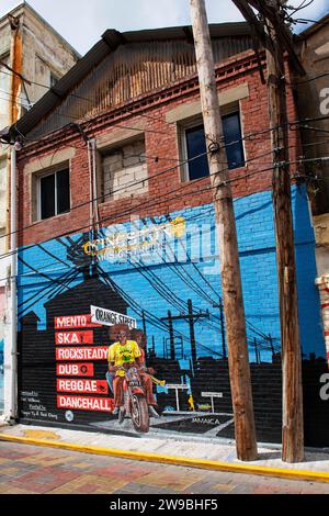
[[[241,128],[241,137],[243,138],[243,124],[242,124],[242,116],[241,116],[241,106],[240,102],[238,103],[232,103],[229,105],[222,106],[220,109],[220,115],[226,116],[229,114],[238,113],[239,115],[239,122],[240,122],[240,128]],[[201,179],[208,178],[209,176],[204,176],[203,178],[198,179],[190,179],[190,169],[189,169],[189,155],[188,155],[188,138],[186,138],[186,132],[192,128],[196,128],[197,126],[204,125],[203,124],[203,117],[202,113],[192,116],[191,119],[186,119],[184,121],[180,121],[179,123],[179,131],[180,131],[180,152],[181,152],[181,158],[183,161],[183,166],[181,169],[181,181],[182,182],[193,182],[193,181],[198,181]],[[240,165],[238,167],[229,169],[231,172],[232,170],[239,170],[241,168],[246,168],[246,161],[247,161],[247,155],[246,155],[246,146],[245,146],[245,141],[242,139],[241,142],[242,145],[242,150],[243,150],[243,165]]]

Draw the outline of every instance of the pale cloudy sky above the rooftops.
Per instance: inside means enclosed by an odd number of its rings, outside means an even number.
[[[288,0],[288,4],[298,7],[302,1]],[[308,2],[305,0],[306,5]],[[0,0],[0,16],[19,3],[19,0]],[[29,3],[81,55],[106,29],[124,32],[190,24],[189,0],[30,0]],[[206,7],[209,23],[242,20],[231,0],[206,0]],[[328,0],[314,0],[298,18],[318,20],[328,11]]]

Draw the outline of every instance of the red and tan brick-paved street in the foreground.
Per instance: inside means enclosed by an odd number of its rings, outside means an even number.
[[[329,494],[329,484],[0,442],[0,494]]]

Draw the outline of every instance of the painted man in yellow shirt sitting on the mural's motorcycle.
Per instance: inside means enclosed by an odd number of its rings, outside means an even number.
[[[125,369],[129,366],[135,364],[138,369],[144,366],[144,360],[141,357],[141,351],[138,344],[135,340],[127,340],[127,332],[121,329],[118,332],[118,341],[112,344],[107,351],[107,361],[109,361],[109,372],[110,374],[115,374],[113,379],[113,394],[115,408],[113,414],[117,414],[120,408],[123,406],[123,382],[125,378]],[[144,380],[143,372],[140,373],[141,381]],[[149,405],[150,415],[157,416],[154,408],[156,401],[154,400],[151,392],[151,381],[150,389],[149,382],[143,381],[146,399]],[[150,391],[150,392],[149,392]],[[155,413],[154,413],[155,411]]]

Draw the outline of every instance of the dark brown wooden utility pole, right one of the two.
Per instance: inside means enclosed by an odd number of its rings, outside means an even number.
[[[265,2],[266,3],[266,2]],[[272,2],[273,3],[273,2]],[[277,1],[277,12],[280,9]],[[302,354],[298,328],[295,244],[291,199],[286,80],[283,48],[268,21],[273,42],[266,51],[270,126],[273,147],[273,206],[275,218],[282,339],[283,422],[282,460],[304,459]]]

